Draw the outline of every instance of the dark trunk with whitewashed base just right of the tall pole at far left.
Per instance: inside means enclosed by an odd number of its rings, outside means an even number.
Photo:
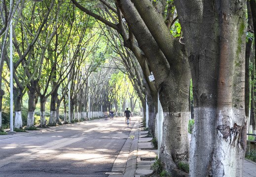
[[[14,128],[22,129],[21,98],[23,89],[13,88],[14,96]]]

